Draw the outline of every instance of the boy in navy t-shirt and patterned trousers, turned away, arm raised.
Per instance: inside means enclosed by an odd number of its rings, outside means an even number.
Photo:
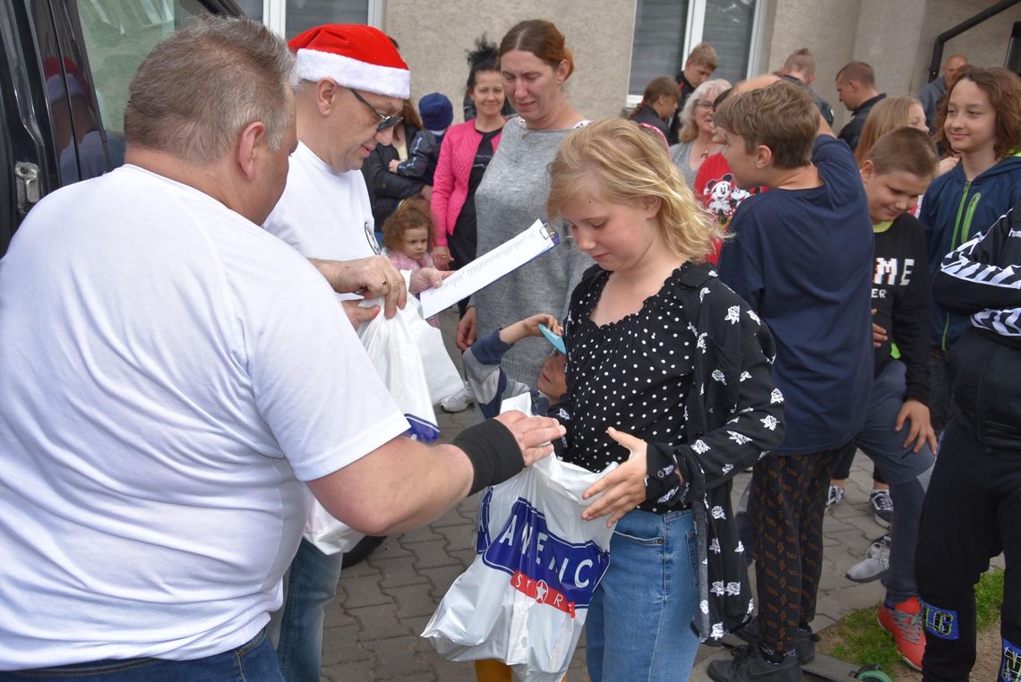
[[[709,673],[717,682],[796,681],[798,660],[815,655],[810,623],[830,475],[869,405],[873,233],[854,156],[811,95],[776,77],[738,90],[716,114],[723,153],[738,187],[770,191],[738,207],[719,271],[777,339],[787,435],[751,481],[758,642]]]

